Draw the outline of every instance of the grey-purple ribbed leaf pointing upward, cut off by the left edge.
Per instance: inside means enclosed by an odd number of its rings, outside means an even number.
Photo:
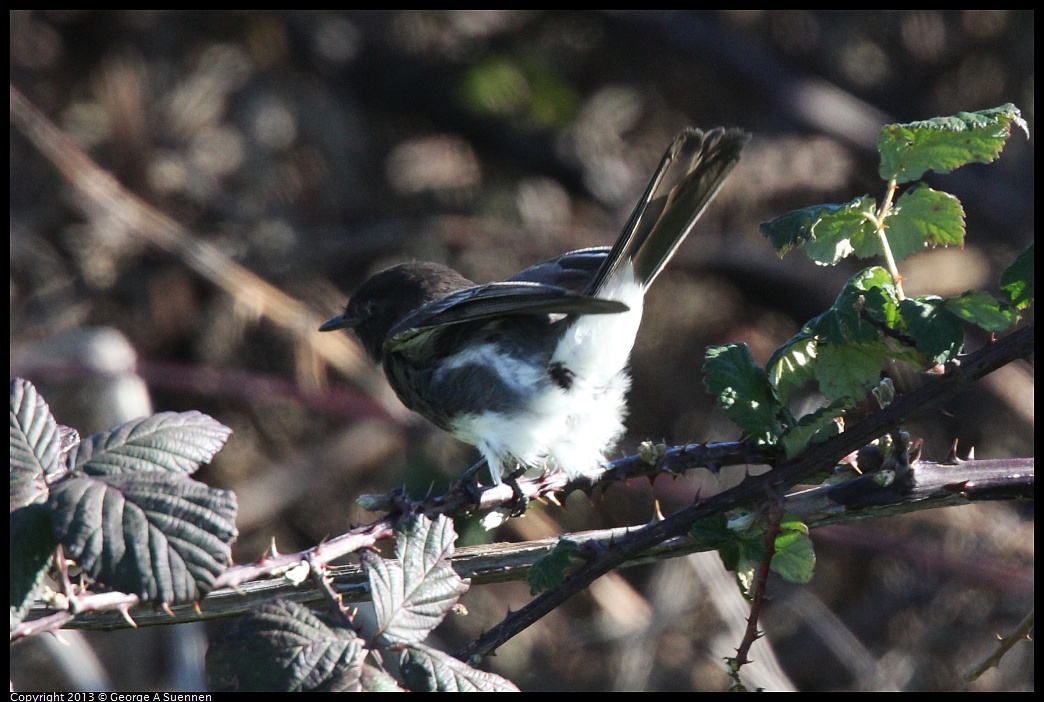
[[[47,402],[28,380],[10,381],[10,509],[47,499],[61,472],[61,436]]]

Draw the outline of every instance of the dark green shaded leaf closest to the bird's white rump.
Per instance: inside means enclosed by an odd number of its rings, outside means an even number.
[[[717,396],[718,406],[743,434],[772,443],[783,431],[785,410],[745,344],[709,347],[704,373],[704,382]]]

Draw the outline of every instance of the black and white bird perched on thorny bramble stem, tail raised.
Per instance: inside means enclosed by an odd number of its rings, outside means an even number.
[[[484,285],[403,263],[362,283],[319,331],[354,330],[399,399],[478,447],[494,483],[517,468],[596,468],[623,434],[645,290],[749,140],[720,127],[679,135],[612,249]]]

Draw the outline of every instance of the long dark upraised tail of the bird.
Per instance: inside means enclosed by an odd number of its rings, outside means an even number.
[[[627,259],[638,280],[647,287],[692,231],[750,139],[751,135],[742,130],[722,127],[680,134],[588,294],[597,295],[620,262]]]

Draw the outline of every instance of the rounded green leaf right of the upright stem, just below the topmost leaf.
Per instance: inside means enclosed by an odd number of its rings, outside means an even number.
[[[965,210],[960,201],[926,185],[917,185],[904,192],[885,225],[888,247],[897,261],[924,251],[925,247],[965,244]],[[880,239],[875,236],[874,241],[877,249],[874,253],[879,253]]]

